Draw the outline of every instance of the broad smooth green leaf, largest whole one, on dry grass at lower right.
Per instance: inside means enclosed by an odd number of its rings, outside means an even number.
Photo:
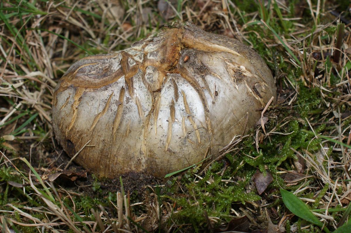
[[[318,218],[314,216],[314,214],[302,200],[296,197],[293,193],[284,189],[280,189],[280,193],[282,194],[282,199],[285,206],[291,211],[291,213],[319,227],[323,227],[322,222],[320,222]]]

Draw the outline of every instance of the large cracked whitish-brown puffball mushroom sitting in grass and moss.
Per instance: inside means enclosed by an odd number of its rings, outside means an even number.
[[[187,23],[75,62],[55,89],[53,128],[71,157],[90,141],[75,161],[100,177],[164,177],[218,156],[272,96],[256,52]]]

